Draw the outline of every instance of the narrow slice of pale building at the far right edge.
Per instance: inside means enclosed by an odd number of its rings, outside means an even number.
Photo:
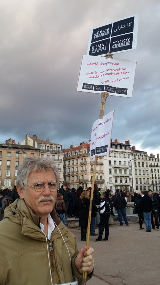
[[[160,191],[160,159],[159,154],[157,154],[157,158],[155,155],[150,154],[149,156],[149,168],[151,175],[151,190]]]

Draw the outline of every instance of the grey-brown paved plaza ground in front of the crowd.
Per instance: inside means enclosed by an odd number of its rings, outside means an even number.
[[[80,240],[80,227],[70,230],[81,249],[85,242]],[[147,233],[133,222],[129,227],[115,222],[109,230],[108,241],[94,242],[97,236],[90,236],[89,246],[95,250],[95,269],[87,285],[159,285],[160,231]]]

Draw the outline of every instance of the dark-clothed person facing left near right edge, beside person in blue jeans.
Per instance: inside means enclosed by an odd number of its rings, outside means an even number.
[[[151,198],[152,206],[153,206],[153,209],[152,209],[152,212],[151,212],[152,230],[155,230],[155,226],[156,226],[156,229],[159,230],[159,222],[158,222],[158,215],[157,215],[157,212],[158,212],[157,211],[157,207],[159,205],[159,202],[158,202],[157,198],[153,195],[151,190],[148,191],[148,196]],[[153,221],[153,216],[155,218],[155,224],[154,224],[154,221]]]

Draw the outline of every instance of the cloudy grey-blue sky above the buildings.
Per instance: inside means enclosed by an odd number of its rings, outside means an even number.
[[[0,143],[88,142],[101,95],[76,85],[90,29],[137,13],[137,49],[114,55],[137,60],[133,96],[109,96],[105,115],[115,110],[112,140],[160,153],[159,0],[1,0]]]

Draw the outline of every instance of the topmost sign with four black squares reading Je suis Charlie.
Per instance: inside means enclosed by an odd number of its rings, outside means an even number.
[[[135,50],[138,14],[91,30],[87,55],[106,55]]]

